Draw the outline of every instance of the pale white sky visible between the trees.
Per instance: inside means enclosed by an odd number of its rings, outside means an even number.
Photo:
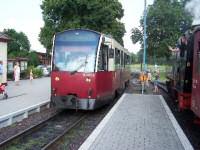
[[[131,52],[137,52],[140,45],[133,45],[130,40],[131,29],[139,26],[139,20],[144,10],[143,0],[119,0],[124,9],[122,22],[125,24],[125,47]],[[153,0],[147,0],[152,4]],[[45,52],[44,47],[38,41],[40,28],[43,26],[42,0],[0,0],[0,31],[13,28],[17,32],[24,32],[31,43],[31,49]]]

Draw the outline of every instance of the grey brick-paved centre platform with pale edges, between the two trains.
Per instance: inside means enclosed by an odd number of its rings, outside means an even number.
[[[124,94],[79,150],[193,150],[160,95]]]

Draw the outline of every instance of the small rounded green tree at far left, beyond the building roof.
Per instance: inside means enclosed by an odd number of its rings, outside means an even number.
[[[14,29],[4,29],[3,32],[11,38],[8,43],[8,55],[26,56],[31,46],[28,37],[23,32],[16,32]]]

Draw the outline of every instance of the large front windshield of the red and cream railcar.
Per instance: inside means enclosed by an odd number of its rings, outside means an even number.
[[[100,35],[86,30],[59,33],[54,42],[53,70],[94,72]]]

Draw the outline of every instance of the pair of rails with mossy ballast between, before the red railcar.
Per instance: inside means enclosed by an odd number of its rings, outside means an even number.
[[[61,116],[60,116],[61,114]],[[87,113],[55,114],[0,143],[0,149],[49,149],[79,124]]]

